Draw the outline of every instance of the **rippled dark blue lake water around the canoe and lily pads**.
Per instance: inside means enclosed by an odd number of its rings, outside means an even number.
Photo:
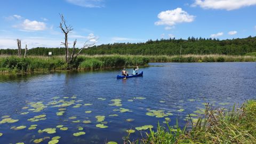
[[[0,124],[0,143],[34,143],[33,140],[44,137],[60,136],[59,143],[105,143],[116,141],[122,143],[127,136],[127,129],[163,124],[165,117],[174,125],[176,119],[185,124],[187,114],[204,108],[204,102],[211,102],[215,107],[230,107],[256,97],[256,64],[255,62],[232,63],[151,63],[151,67],[141,68],[143,77],[116,79],[118,70],[96,72],[67,72],[53,74],[34,74],[20,76],[0,76],[0,117],[9,115],[19,119],[15,123]],[[129,70],[130,72],[132,70]],[[76,98],[71,98],[76,95]],[[60,97],[52,99],[53,97]],[[65,98],[68,97],[68,98]],[[146,99],[136,99],[142,97]],[[105,98],[106,100],[99,100]],[[112,99],[122,100],[122,106],[109,106]],[[132,99],[133,101],[128,101]],[[56,113],[63,107],[54,107],[61,101],[72,101],[65,113]],[[51,103],[51,102],[59,103]],[[160,102],[161,101],[161,102]],[[44,108],[33,112],[30,102],[41,102]],[[50,103],[49,103],[50,102]],[[81,107],[73,106],[81,104]],[[84,106],[92,103],[91,106]],[[28,109],[22,109],[29,107]],[[126,108],[121,113],[113,109]],[[173,115],[157,118],[147,116],[148,110],[163,110]],[[184,109],[184,111],[182,111]],[[29,112],[21,115],[23,112]],[[85,113],[92,111],[92,113]],[[27,121],[34,116],[45,114],[46,119],[38,122]],[[117,114],[116,117],[109,115]],[[96,127],[95,116],[105,116],[106,129]],[[76,116],[76,119],[69,119]],[[132,118],[133,122],[125,119]],[[2,120],[3,118],[1,118]],[[80,120],[78,123],[73,121]],[[83,121],[92,123],[85,124]],[[28,130],[30,125],[37,124],[35,130]],[[26,129],[13,130],[12,126],[27,126]],[[56,128],[57,125],[68,127],[67,131],[57,128],[56,133],[38,133],[38,130]],[[164,124],[163,124],[164,125]],[[82,126],[84,135],[74,137]],[[153,129],[153,130],[154,130]],[[132,133],[131,139],[139,138],[140,132]],[[41,143],[47,143],[45,139]]]

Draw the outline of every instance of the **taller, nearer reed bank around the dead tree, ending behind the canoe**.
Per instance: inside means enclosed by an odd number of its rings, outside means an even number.
[[[73,63],[73,69],[107,69],[115,67],[147,66],[149,58],[133,55],[80,56]],[[63,57],[30,56],[27,58],[0,57],[2,73],[31,73],[40,71],[66,70]]]

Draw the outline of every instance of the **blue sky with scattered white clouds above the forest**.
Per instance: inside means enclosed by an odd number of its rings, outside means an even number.
[[[256,0],[9,0],[0,2],[0,49],[60,47],[62,13],[73,26],[69,42],[82,47],[148,39],[244,38],[256,34]]]

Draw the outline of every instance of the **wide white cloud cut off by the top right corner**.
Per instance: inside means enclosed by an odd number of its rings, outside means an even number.
[[[203,9],[223,9],[230,11],[255,4],[256,0],[195,0],[192,6],[199,5]]]

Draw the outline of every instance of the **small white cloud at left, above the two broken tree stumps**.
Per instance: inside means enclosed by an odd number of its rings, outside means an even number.
[[[25,19],[21,25],[15,25],[14,28],[20,28],[21,31],[38,31],[47,29],[46,23],[40,21],[30,21]]]

